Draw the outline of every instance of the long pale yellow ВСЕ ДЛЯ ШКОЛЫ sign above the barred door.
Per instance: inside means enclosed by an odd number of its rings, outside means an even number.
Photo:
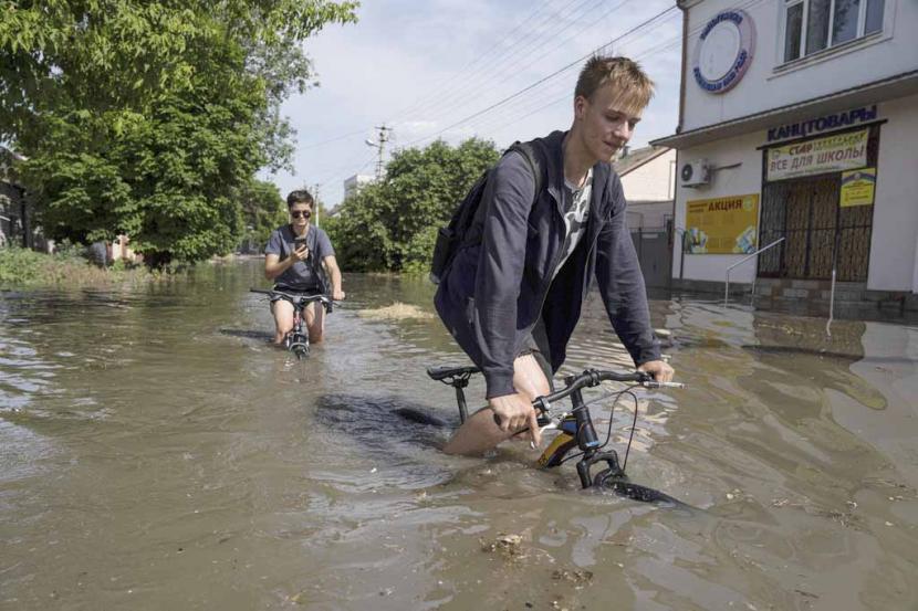
[[[770,148],[768,179],[839,172],[867,165],[868,129]]]

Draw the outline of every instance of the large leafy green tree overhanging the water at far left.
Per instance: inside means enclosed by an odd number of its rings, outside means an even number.
[[[0,139],[52,238],[131,234],[153,264],[232,250],[240,197],[289,167],[300,43],[356,2],[0,0]]]

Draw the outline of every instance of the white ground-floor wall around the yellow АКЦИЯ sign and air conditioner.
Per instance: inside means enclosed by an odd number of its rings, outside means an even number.
[[[765,141],[764,131],[745,134],[737,138],[718,140],[703,146],[679,151],[678,167],[690,159],[708,159],[712,168],[722,166],[739,167],[714,170],[711,173],[711,183],[697,189],[677,187],[676,191],[676,227],[686,228],[686,201],[697,199],[722,198],[728,196],[744,196],[759,193],[759,210],[761,211],[762,192],[762,151],[755,150]],[[681,235],[677,234],[672,249],[672,277],[679,277],[679,261],[681,254]],[[723,282],[727,267],[747,256],[744,254],[687,254],[682,277],[685,280],[702,280]],[[730,282],[752,282],[755,277],[757,260],[752,259],[744,265],[730,272]]]

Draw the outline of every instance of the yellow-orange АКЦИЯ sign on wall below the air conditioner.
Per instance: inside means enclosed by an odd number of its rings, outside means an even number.
[[[687,253],[752,253],[758,240],[759,193],[686,202]]]

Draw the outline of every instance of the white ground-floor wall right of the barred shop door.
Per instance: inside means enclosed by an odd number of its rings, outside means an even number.
[[[918,96],[878,106],[879,160],[867,288],[918,291]]]

